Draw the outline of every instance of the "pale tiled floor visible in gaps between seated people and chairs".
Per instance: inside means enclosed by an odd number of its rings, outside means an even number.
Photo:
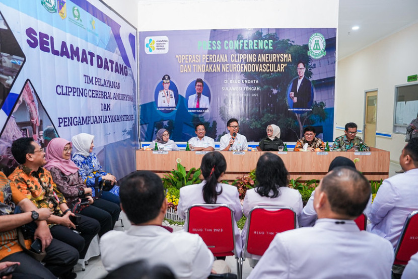
[[[389,176],[393,176],[397,173],[395,171],[400,170],[400,165],[391,162],[389,166]],[[130,223],[127,220],[126,216],[122,213],[122,220],[124,224],[124,229],[130,227]],[[175,230],[180,230],[182,227],[174,227]],[[115,230],[122,230],[121,223],[118,221],[115,226]],[[226,258],[228,265],[231,267],[231,270],[236,273],[236,261],[235,258],[229,256]],[[79,271],[77,271],[79,270]],[[244,261],[243,265],[243,272],[242,277],[247,278],[250,274],[252,268],[248,264],[248,260]],[[86,270],[81,271],[80,266],[76,266],[77,278],[79,279],[99,279],[106,276],[107,272],[103,267],[102,261],[100,260],[100,256],[93,257],[89,260],[89,264],[86,265]]]

